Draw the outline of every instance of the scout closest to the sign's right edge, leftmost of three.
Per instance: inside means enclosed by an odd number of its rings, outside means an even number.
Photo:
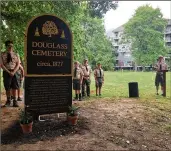
[[[73,71],[73,89],[75,90],[75,100],[81,101],[81,85],[83,81],[83,72],[79,67],[78,61],[74,62],[74,71]]]

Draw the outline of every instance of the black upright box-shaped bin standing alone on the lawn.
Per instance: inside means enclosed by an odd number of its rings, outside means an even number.
[[[138,82],[129,83],[129,97],[139,97]]]

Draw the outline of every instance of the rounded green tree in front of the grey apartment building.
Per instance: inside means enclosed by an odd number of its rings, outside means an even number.
[[[140,6],[124,27],[127,39],[132,41],[132,54],[137,64],[153,64],[159,54],[167,53],[163,39],[166,20],[159,8]]]

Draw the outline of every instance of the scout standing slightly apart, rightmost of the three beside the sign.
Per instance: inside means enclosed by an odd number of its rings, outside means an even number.
[[[97,68],[94,70],[94,78],[95,78],[95,86],[96,86],[96,96],[98,96],[98,90],[99,90],[99,96],[101,96],[101,88],[102,84],[104,83],[104,71],[101,68],[101,64],[97,64]]]

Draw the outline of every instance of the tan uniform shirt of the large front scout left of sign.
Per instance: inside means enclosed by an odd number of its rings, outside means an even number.
[[[8,69],[8,70],[14,70],[16,67],[17,62],[19,61],[20,63],[20,58],[18,57],[18,54],[15,52],[10,52],[12,60],[7,63],[7,56],[9,55],[8,51],[1,52],[1,61],[3,65]]]

